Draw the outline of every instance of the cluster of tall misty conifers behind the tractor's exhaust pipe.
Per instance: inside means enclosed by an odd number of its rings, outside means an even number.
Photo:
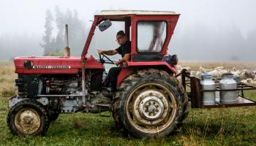
[[[78,55],[86,41],[86,24],[78,18],[76,10],[62,12],[58,6],[53,12],[48,9],[45,14],[45,32],[40,43],[43,55],[62,55],[65,47],[65,24],[69,26],[69,46],[72,55]],[[55,26],[55,27],[54,27]],[[56,34],[54,34],[56,32]]]

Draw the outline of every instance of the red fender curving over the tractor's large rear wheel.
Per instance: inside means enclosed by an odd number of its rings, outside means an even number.
[[[127,66],[123,67],[121,69],[121,72],[118,74],[117,77],[117,84],[120,85],[121,82],[129,76],[129,74],[132,74],[132,72],[138,71],[140,69],[162,69],[168,73],[176,73],[176,70],[173,69],[172,66],[167,64],[165,61],[150,61],[150,62],[127,62]]]

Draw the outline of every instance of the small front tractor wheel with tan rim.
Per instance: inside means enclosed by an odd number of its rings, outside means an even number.
[[[15,135],[43,135],[49,128],[48,113],[37,101],[23,100],[7,115],[7,125]]]

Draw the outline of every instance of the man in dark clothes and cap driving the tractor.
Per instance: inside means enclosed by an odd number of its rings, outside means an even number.
[[[131,53],[131,42],[124,34],[124,31],[118,31],[116,34],[116,41],[120,47],[113,49],[113,50],[97,50],[99,54],[105,55],[116,55],[117,53],[121,55],[121,60],[116,62],[116,66],[112,67],[109,72],[108,76],[105,79],[105,86],[108,88],[110,87],[110,93],[104,93],[105,96],[110,98],[113,97],[113,93],[116,92],[116,82],[119,72],[121,71],[121,64],[125,61],[129,61],[130,53]]]

